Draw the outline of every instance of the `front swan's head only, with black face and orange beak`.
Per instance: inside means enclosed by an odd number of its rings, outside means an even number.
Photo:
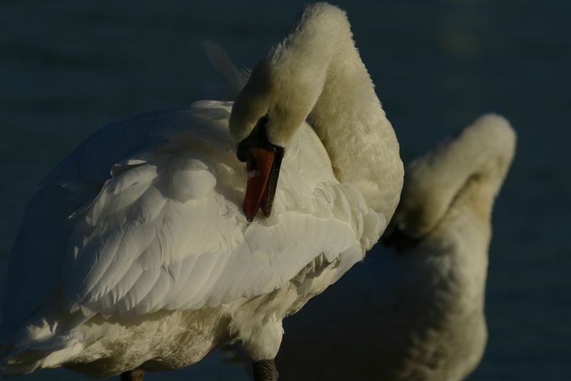
[[[270,66],[263,60],[252,71],[230,117],[238,159],[246,161],[248,169],[243,209],[250,221],[258,208],[266,217],[270,215],[283,153],[309,113],[295,91],[280,85],[276,68]]]

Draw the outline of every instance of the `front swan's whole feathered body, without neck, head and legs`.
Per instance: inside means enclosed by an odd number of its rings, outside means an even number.
[[[44,179],[9,268],[5,375],[188,365],[268,321],[244,305],[283,317],[363,258],[385,220],[338,183],[307,125],[283,158],[271,217],[247,223],[231,106],[201,101],[114,123]],[[181,340],[186,349],[173,350]]]

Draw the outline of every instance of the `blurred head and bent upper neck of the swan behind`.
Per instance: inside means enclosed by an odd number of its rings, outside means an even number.
[[[490,225],[495,195],[515,153],[515,131],[502,116],[487,114],[458,136],[411,162],[405,170],[400,203],[387,233],[386,245],[399,251],[430,236],[461,203]]]

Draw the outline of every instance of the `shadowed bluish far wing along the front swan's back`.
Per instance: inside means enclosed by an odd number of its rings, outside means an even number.
[[[219,147],[231,147],[231,103],[210,102],[158,111],[105,126],[59,163],[26,208],[12,249],[1,330],[12,332],[62,283],[62,263],[74,229],[69,216],[89,205],[111,178],[114,163],[153,151],[189,130]]]

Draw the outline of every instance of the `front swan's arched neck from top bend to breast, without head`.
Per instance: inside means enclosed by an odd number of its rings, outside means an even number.
[[[287,73],[296,93],[310,98],[303,119],[323,142],[338,180],[357,186],[368,205],[389,220],[402,188],[403,164],[345,12],[325,3],[306,7],[270,60]]]

